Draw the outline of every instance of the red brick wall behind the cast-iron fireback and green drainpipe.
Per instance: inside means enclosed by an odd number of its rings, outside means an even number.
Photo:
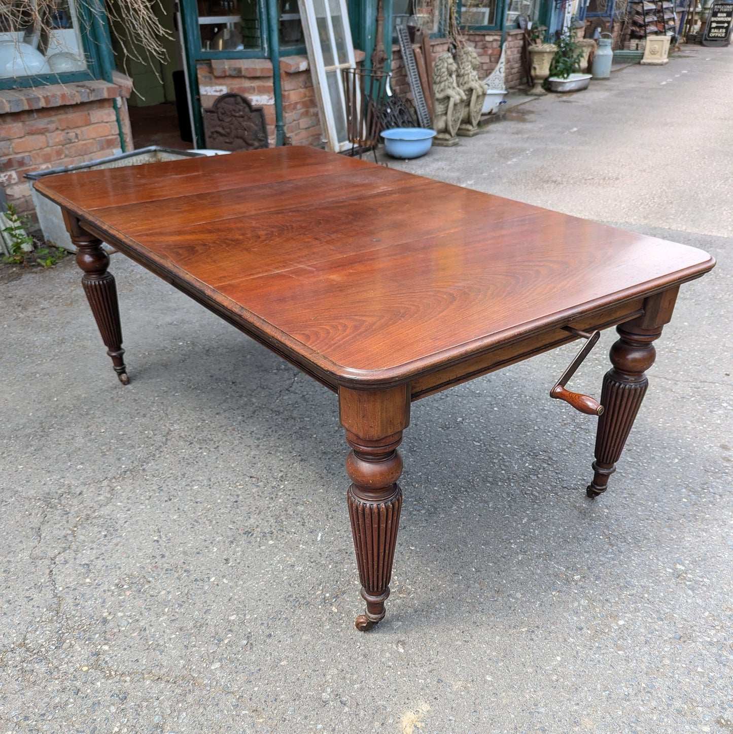
[[[241,94],[253,105],[263,108],[269,143],[275,144],[274,90],[269,59],[199,62],[197,76],[203,108],[211,108],[216,98],[227,92]],[[321,142],[321,123],[307,57],[282,57],[280,84],[285,136],[292,145],[318,145]]]

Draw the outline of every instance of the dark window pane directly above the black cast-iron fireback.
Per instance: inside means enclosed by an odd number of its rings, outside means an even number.
[[[202,51],[260,48],[258,4],[250,0],[198,0]]]

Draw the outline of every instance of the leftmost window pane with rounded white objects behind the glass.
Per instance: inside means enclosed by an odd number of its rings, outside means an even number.
[[[23,0],[0,5],[0,78],[87,68],[75,0],[41,7],[36,18]]]

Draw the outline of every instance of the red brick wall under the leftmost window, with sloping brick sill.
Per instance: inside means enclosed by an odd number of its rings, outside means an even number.
[[[105,81],[1,91],[0,185],[8,202],[34,220],[24,174],[120,153],[114,98],[128,94],[126,85]]]

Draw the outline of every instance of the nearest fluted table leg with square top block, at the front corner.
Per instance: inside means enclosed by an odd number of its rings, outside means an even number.
[[[351,446],[346,458],[351,487],[346,498],[366,602],[366,612],[355,625],[366,631],[384,619],[384,602],[390,595],[402,507],[397,484],[402,457],[397,447],[409,424],[409,389],[406,385],[374,392],[341,388],[339,407]]]

